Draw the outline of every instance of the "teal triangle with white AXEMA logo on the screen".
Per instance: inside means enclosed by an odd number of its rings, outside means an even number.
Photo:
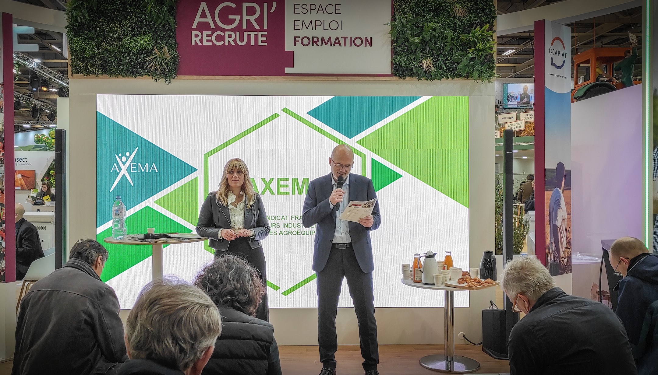
[[[97,227],[111,220],[116,195],[121,196],[126,209],[131,209],[196,170],[96,112]]]

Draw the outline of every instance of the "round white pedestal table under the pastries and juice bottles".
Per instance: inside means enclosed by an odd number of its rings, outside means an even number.
[[[420,366],[429,370],[447,372],[449,374],[467,374],[468,372],[477,371],[480,368],[480,363],[478,363],[478,361],[461,355],[455,355],[455,290],[465,289],[450,288],[449,286],[425,285],[420,282],[415,283],[411,279],[402,279],[402,284],[420,289],[445,291],[444,353],[422,357],[420,359]]]

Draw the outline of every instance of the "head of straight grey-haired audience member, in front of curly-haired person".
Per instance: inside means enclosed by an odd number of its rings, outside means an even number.
[[[222,317],[199,288],[178,280],[147,284],[126,321],[130,359],[201,374],[222,333]]]

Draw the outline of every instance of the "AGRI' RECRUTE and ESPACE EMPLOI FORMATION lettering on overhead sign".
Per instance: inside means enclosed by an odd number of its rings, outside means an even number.
[[[267,45],[268,16],[276,10],[277,2],[241,5],[224,2],[209,9],[202,1],[192,29],[206,30],[191,30],[192,45]],[[295,47],[372,47],[372,36],[343,35],[341,4],[295,3],[292,11],[293,14],[286,16],[295,18],[292,22],[295,34],[305,31],[315,34],[286,35],[292,38]],[[327,16],[332,19],[319,19]],[[317,35],[318,32],[323,35]]]

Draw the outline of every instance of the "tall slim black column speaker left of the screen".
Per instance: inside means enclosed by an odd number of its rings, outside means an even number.
[[[66,263],[66,130],[55,129],[55,268]]]

